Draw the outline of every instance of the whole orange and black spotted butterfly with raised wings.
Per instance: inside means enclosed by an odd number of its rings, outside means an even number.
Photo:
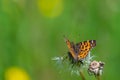
[[[68,47],[68,57],[72,64],[78,64],[87,57],[90,50],[96,46],[96,40],[87,40],[74,44],[65,38]]]

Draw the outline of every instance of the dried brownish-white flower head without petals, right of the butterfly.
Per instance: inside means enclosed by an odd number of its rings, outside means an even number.
[[[101,61],[92,61],[89,65],[88,72],[90,74],[94,74],[95,76],[102,75],[103,72],[103,67],[104,67],[104,62]]]

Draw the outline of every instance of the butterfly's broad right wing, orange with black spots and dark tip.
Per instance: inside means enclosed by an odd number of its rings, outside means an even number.
[[[80,42],[78,45],[78,60],[84,59],[89,51],[96,46],[96,40],[87,40],[84,42]]]

